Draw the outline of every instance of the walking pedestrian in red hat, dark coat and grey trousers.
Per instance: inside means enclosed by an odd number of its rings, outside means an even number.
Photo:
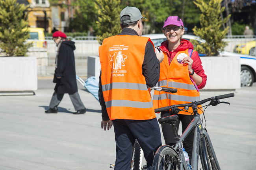
[[[73,114],[84,114],[86,112],[86,108],[80,99],[76,83],[74,58],[74,50],[76,49],[74,45],[75,43],[70,40],[66,40],[67,35],[61,31],[54,32],[52,37],[58,47],[55,62],[56,69],[53,80],[53,82],[56,83],[56,86],[50,101],[50,109],[46,110],[45,113],[57,113],[61,99],[65,93],[68,93],[76,110]]]

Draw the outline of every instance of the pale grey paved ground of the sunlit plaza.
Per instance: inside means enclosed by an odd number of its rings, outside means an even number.
[[[45,114],[54,85],[52,79],[39,78],[35,95],[0,96],[0,170],[111,170],[114,131],[113,127],[109,131],[100,128],[98,101],[78,83],[86,114],[72,114],[75,110],[68,94],[58,114]],[[202,90],[200,98],[230,92],[235,97],[221,100],[230,105],[206,109],[206,128],[222,170],[253,170],[256,83],[236,91]]]

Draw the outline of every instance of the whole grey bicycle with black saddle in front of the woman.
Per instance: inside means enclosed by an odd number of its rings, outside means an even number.
[[[182,133],[181,136],[178,135],[178,131],[176,129],[176,124],[175,124],[178,118],[177,115],[171,115],[171,116],[158,119],[158,122],[160,124],[170,123],[172,125],[173,132],[174,132],[174,139],[176,139],[176,144],[173,146],[162,145],[158,148],[154,156],[152,169],[153,170],[160,170],[160,169],[190,170],[192,167],[193,170],[197,170],[198,155],[199,155],[203,170],[220,170],[221,168],[217,161],[217,157],[214,152],[213,145],[210,140],[210,136],[206,128],[202,127],[202,120],[200,119],[200,115],[197,112],[197,109],[201,109],[201,108],[197,108],[197,105],[202,105],[207,101],[210,101],[210,103],[203,107],[207,108],[210,105],[216,106],[220,103],[230,104],[228,102],[219,101],[219,99],[230,98],[230,97],[234,97],[234,93],[215,96],[215,97],[211,97],[201,101],[194,101],[191,103],[171,105],[171,106],[155,109],[155,112],[171,110],[174,114],[177,114],[181,110],[188,110],[189,107],[192,107],[193,113],[191,114],[193,114],[194,118],[191,121],[191,123],[188,125],[186,130]],[[179,109],[179,107],[183,107],[183,109]],[[203,115],[203,118],[205,119],[204,111],[202,115]],[[184,139],[187,137],[187,135],[193,128],[195,128],[194,143],[193,143],[191,167],[189,167],[190,165],[187,166],[186,160],[184,158],[184,153],[182,151],[182,142],[184,141]]]

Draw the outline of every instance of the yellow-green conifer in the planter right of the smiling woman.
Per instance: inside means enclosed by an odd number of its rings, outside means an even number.
[[[206,56],[216,56],[220,51],[224,51],[226,42],[222,41],[225,35],[228,33],[229,27],[226,27],[221,31],[221,27],[228,21],[227,16],[221,20],[221,13],[225,10],[225,7],[221,7],[222,0],[195,0],[195,4],[199,7],[200,25],[201,28],[195,26],[193,32],[195,35],[206,40],[205,43],[198,44],[195,41],[191,41],[200,53],[206,54]]]

